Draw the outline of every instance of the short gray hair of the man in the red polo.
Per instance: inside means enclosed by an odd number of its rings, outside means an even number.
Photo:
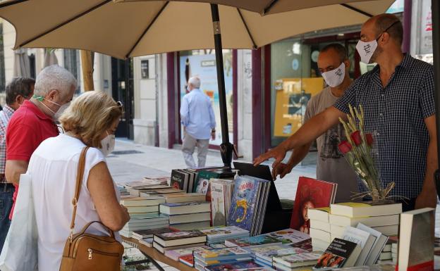
[[[44,68],[35,80],[35,95],[46,96],[51,90],[59,90],[62,97],[71,92],[72,87],[76,89],[75,77],[65,68],[59,65],[50,65]]]

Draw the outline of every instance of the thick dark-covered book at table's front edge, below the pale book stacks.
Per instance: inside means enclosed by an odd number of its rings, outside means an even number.
[[[161,246],[181,246],[206,242],[206,235],[199,230],[164,232],[154,234],[154,241]]]

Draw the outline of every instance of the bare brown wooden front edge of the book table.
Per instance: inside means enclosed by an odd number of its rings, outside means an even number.
[[[122,237],[122,236],[121,236]],[[177,262],[176,260],[171,260],[170,258],[164,256],[164,254],[157,251],[156,248],[149,248],[148,246],[144,246],[142,244],[139,244],[138,239],[134,238],[127,238],[122,237],[123,241],[127,244],[130,244],[131,246],[134,246],[135,248],[138,248],[142,254],[144,254],[145,257],[147,257],[153,265],[157,267],[157,269],[164,271],[164,269],[156,262],[159,261],[161,263],[165,263],[166,265],[169,265],[171,267],[176,268],[177,270],[181,271],[197,271],[194,267],[189,267],[188,265],[185,265],[181,262]]]

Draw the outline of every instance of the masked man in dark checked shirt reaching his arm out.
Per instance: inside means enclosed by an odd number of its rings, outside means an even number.
[[[404,211],[436,208],[434,68],[404,54],[402,39],[403,27],[396,15],[381,14],[367,20],[356,49],[362,62],[377,66],[357,78],[334,106],[315,115],[279,146],[256,158],[255,164],[276,158],[273,168],[279,167],[286,151],[313,141],[336,125],[338,118],[346,119],[348,104],[362,105],[365,131],[375,137],[374,156],[383,186],[396,184],[390,195],[405,199]],[[360,189],[365,187],[361,185]]]

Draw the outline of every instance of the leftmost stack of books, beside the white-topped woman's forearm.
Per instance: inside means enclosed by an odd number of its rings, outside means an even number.
[[[135,230],[157,229],[169,227],[169,218],[159,214],[159,204],[164,203],[164,198],[141,198],[124,196],[121,204],[126,206],[130,213],[130,221],[120,231],[124,237],[132,237]]]

